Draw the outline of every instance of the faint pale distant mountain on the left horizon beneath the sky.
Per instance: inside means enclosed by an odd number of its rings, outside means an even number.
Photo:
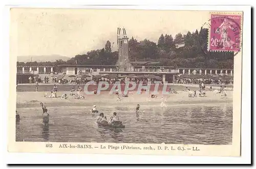
[[[42,55],[42,56],[17,56],[17,61],[18,62],[54,62],[56,60],[62,59],[64,61],[67,61],[71,59],[70,57],[67,56],[61,56],[61,55]]]

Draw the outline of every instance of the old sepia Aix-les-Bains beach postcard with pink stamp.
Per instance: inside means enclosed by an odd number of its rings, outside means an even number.
[[[242,10],[10,16],[9,152],[240,156]]]

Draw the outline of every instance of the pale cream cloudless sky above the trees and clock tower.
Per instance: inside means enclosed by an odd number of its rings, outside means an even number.
[[[10,46],[16,56],[74,57],[102,49],[107,40],[116,50],[117,27],[129,38],[158,41],[161,34],[195,32],[208,11],[110,9],[11,9]]]

